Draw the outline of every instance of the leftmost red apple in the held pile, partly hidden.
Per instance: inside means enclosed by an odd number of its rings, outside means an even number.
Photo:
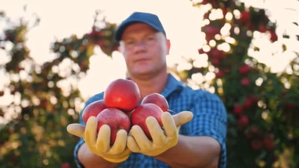
[[[100,112],[102,112],[107,107],[104,104],[104,100],[98,100],[95,102],[90,103],[82,113],[82,119],[85,123],[90,118],[90,116],[97,116]]]

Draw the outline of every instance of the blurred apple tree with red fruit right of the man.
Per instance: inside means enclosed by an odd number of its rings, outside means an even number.
[[[209,65],[177,73],[185,82],[212,90],[223,100],[228,112],[227,167],[298,167],[299,53],[276,42],[291,35],[278,36],[266,9],[239,0],[202,0],[193,5],[206,9],[202,27],[206,43],[199,56],[208,57]],[[298,27],[299,23],[293,24]],[[272,72],[252,56],[260,50],[254,43],[256,34],[266,36],[269,47],[276,42],[281,53],[295,55],[284,71]],[[298,40],[298,35],[292,37]],[[194,61],[188,60],[195,65]],[[211,81],[192,80],[211,72]]]

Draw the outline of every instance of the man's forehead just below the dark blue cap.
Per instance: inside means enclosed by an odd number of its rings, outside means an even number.
[[[138,33],[156,33],[157,30],[144,23],[134,23],[125,28],[122,33],[122,38],[128,35],[138,34]]]

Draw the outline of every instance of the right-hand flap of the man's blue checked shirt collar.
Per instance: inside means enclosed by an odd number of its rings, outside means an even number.
[[[167,98],[172,92],[176,90],[181,90],[183,88],[183,84],[179,82],[173,75],[168,74],[168,79],[166,86],[164,87],[161,94]]]

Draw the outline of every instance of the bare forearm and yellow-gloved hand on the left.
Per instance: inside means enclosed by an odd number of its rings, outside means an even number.
[[[68,133],[85,140],[85,143],[78,150],[78,160],[85,167],[100,166],[101,168],[113,168],[118,163],[125,161],[131,153],[126,147],[127,132],[119,130],[116,140],[111,146],[110,127],[102,125],[96,135],[97,121],[94,116],[88,119],[86,126],[74,123],[69,124],[66,129]]]

